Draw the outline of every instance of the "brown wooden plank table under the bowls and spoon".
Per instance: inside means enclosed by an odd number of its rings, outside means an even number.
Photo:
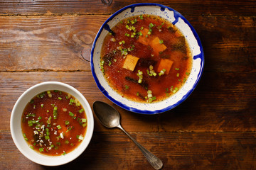
[[[256,2],[150,1],[186,17],[201,38],[206,64],[180,106],[140,115],[103,96],[85,60],[102,23],[137,3],[102,1],[0,2],[0,169],[152,169],[123,132],[97,119],[89,147],[75,161],[47,167],[24,157],[11,138],[11,110],[43,81],[74,86],[90,106],[105,101],[117,108],[123,128],[161,158],[163,169],[256,169]]]

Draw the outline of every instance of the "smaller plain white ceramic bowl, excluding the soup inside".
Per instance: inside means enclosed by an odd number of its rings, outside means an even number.
[[[37,94],[40,94],[41,92],[48,90],[65,91],[66,93],[71,94],[72,96],[77,98],[78,101],[80,101],[83,108],[85,109],[85,113],[87,116],[87,131],[85,133],[84,140],[82,140],[80,145],[76,147],[72,152],[65,154],[64,156],[62,155],[50,157],[34,151],[30,147],[28,147],[28,143],[24,140],[23,134],[21,132],[21,115],[27,103],[31,101],[31,99]],[[16,101],[13,111],[11,112],[10,125],[11,137],[13,138],[16,147],[18,147],[19,151],[25,157],[27,157],[33,162],[36,162],[37,164],[46,166],[58,166],[73,161],[80,154],[82,154],[82,152],[85,151],[92,138],[94,119],[92,115],[92,109],[90,108],[89,103],[77,89],[73,88],[73,86],[70,86],[68,84],[56,81],[48,81],[32,86],[18,98],[18,101]]]

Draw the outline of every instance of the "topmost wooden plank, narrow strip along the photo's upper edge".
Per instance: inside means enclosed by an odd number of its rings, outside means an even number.
[[[220,15],[220,16],[254,16],[256,9],[255,1],[238,0],[235,3],[222,0],[150,0],[150,1],[122,1],[113,0],[110,6],[100,0],[63,0],[63,1],[38,1],[38,0],[8,0],[2,1],[0,5],[1,15],[88,15],[88,14],[110,14],[130,4],[151,2],[163,4],[174,8],[176,11],[187,15]],[[100,9],[100,10],[99,10]]]

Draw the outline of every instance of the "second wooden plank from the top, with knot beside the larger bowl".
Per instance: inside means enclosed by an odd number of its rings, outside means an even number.
[[[85,58],[107,17],[0,16],[0,71],[90,71]],[[255,17],[187,19],[203,43],[206,72],[256,71]]]

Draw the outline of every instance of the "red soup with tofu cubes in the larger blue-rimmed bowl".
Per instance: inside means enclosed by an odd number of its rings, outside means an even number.
[[[192,57],[186,38],[172,23],[159,16],[134,16],[112,31],[103,42],[100,65],[117,93],[151,103],[181,89]]]

